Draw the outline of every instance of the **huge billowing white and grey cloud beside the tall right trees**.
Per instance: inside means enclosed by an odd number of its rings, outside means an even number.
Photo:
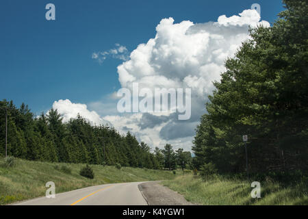
[[[239,15],[219,16],[218,21],[194,24],[191,21],[175,23],[164,18],[156,27],[155,38],[131,52],[130,59],[118,66],[118,79],[123,88],[191,88],[192,117],[178,120],[175,114],[125,115],[109,118],[115,127],[125,124],[140,139],[150,140],[153,146],[173,142],[190,149],[200,116],[205,113],[207,95],[214,90],[213,81],[220,80],[224,61],[233,57],[244,40],[248,28],[264,25],[256,10],[244,10]],[[125,119],[123,119],[125,118]],[[158,145],[159,144],[159,145]]]

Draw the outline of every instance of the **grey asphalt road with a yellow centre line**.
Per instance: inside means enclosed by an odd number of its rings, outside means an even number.
[[[96,185],[55,194],[55,198],[34,198],[15,205],[147,205],[138,189],[140,183],[143,182]]]

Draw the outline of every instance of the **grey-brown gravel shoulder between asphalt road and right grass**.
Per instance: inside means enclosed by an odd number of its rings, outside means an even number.
[[[148,205],[194,205],[186,201],[181,194],[160,185],[159,182],[151,181],[138,185]]]

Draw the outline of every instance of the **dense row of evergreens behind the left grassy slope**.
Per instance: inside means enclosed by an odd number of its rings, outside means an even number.
[[[80,115],[62,123],[57,110],[36,118],[24,103],[0,101],[0,155],[5,154],[5,109],[8,110],[8,155],[23,159],[87,163],[154,169],[186,167],[190,152],[175,153],[170,144],[161,150],[138,142],[131,133],[121,136],[116,129],[92,126]],[[185,156],[183,156],[183,154]],[[183,166],[184,165],[184,166]]]

